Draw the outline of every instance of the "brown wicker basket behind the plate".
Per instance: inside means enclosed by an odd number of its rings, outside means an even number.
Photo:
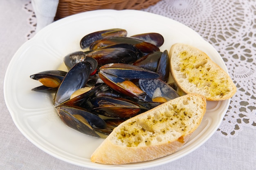
[[[59,0],[55,20],[97,9],[144,9],[160,0]]]

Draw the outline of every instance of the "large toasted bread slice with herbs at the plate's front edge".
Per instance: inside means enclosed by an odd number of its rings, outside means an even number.
[[[135,163],[174,153],[189,140],[205,112],[206,99],[200,94],[165,102],[117,126],[94,151],[91,161]]]

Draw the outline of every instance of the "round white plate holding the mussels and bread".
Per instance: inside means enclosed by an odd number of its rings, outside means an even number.
[[[188,143],[176,153],[143,163],[103,165],[92,163],[90,155],[103,139],[79,133],[58,118],[52,96],[31,89],[39,86],[31,74],[57,69],[63,57],[77,50],[80,39],[94,31],[124,28],[128,36],[156,32],[165,42],[161,51],[177,42],[193,45],[206,52],[227,72],[218,52],[195,31],[169,18],[135,10],[98,10],[80,13],[58,20],[43,28],[23,44],[13,56],[4,80],[4,98],[13,122],[34,145],[63,161],[96,169],[141,169],[159,166],[184,157],[201,146],[218,129],[230,100],[207,102],[207,113]],[[22,147],[22,146],[21,146]]]

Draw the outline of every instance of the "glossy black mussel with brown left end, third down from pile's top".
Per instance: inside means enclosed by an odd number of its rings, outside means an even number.
[[[128,48],[99,48],[89,52],[86,56],[97,60],[98,65],[108,63],[134,63],[138,59],[138,53]]]

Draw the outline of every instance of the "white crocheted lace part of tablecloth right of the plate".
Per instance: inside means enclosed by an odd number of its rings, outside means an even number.
[[[256,129],[255,1],[162,0],[144,11],[189,26],[210,42],[225,61],[237,92],[217,133],[235,137],[243,126]]]

